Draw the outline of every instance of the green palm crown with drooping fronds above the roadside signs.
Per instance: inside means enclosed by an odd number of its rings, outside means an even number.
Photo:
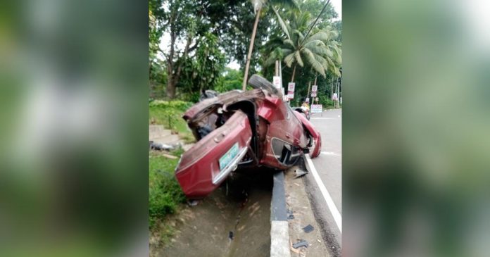
[[[310,23],[309,13],[299,13],[298,15],[293,13],[289,23],[284,23],[279,13],[276,11],[275,13],[279,25],[286,35],[286,39],[279,47],[282,56],[284,56],[284,63],[289,68],[293,67],[291,82],[294,82],[296,66],[303,67],[305,63],[323,77],[326,77],[326,72],[340,75],[341,50],[340,44],[334,40],[337,38],[337,32],[332,26],[315,30],[305,38],[301,31],[304,31]],[[265,65],[270,65],[277,58],[277,51],[272,51],[268,60],[265,61]]]

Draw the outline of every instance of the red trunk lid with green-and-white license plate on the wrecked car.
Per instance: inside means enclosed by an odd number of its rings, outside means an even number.
[[[187,198],[201,199],[225,181],[249,151],[251,138],[249,118],[237,110],[182,154],[175,176]]]

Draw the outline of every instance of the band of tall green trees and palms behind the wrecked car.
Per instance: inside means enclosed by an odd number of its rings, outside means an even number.
[[[206,89],[242,89],[246,66],[245,79],[258,73],[272,81],[280,64],[282,86],[296,83],[291,106],[301,105],[315,82],[318,104],[334,106],[333,94],[341,96],[342,23],[326,3],[150,0],[150,97],[194,103]]]

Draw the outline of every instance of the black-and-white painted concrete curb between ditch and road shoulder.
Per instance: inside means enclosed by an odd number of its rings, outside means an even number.
[[[272,201],[270,203],[270,256],[290,257],[289,225],[287,222],[284,172],[274,174]]]

